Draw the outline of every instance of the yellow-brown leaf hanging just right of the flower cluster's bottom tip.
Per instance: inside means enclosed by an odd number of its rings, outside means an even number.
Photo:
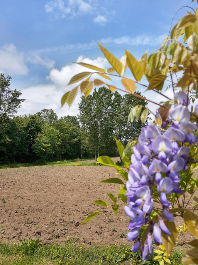
[[[175,227],[174,222],[166,220],[165,225],[171,233],[171,235],[167,235],[162,232],[162,242],[168,256],[170,251],[175,247],[175,242],[177,238],[177,229]]]

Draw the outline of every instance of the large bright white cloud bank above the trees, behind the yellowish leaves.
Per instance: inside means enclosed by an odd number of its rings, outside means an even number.
[[[108,65],[107,60],[103,57],[98,57],[92,60],[81,55],[78,57],[77,62],[86,62],[102,68],[106,68]],[[71,77],[79,72],[84,71],[85,69],[86,68],[75,63],[67,64],[60,70],[52,69],[50,71],[47,79],[52,82],[51,85],[40,84],[22,89],[20,88],[22,92],[21,97],[26,99],[26,101],[22,103],[21,108],[18,110],[18,115],[24,115],[28,113],[33,114],[42,110],[43,108],[52,108],[58,117],[64,115],[77,115],[78,103],[80,102],[81,97],[80,90],[70,109],[68,106],[61,108],[60,100],[65,92],[71,90],[71,88],[65,87]],[[89,71],[89,69],[85,71]],[[92,72],[91,69],[90,72]]]

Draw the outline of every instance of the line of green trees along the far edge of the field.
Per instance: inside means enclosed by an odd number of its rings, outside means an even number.
[[[52,109],[18,116],[24,99],[10,89],[10,81],[0,73],[0,163],[115,156],[114,137],[126,145],[141,131],[141,121],[128,122],[128,115],[134,106],[147,103],[132,95],[100,87],[81,97],[78,116],[58,118]]]

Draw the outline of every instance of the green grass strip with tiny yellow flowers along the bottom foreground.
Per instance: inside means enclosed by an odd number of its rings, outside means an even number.
[[[35,241],[19,244],[0,244],[0,264],[159,264],[158,261],[142,262],[128,246],[86,246],[70,239],[64,245],[40,245]],[[181,253],[175,249],[169,257],[171,264],[180,264]],[[173,263],[174,262],[174,263]],[[165,263],[166,264],[166,263]]]

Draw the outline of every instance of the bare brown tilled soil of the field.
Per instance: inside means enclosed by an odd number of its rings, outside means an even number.
[[[119,158],[114,158],[114,162]],[[62,243],[75,237],[85,244],[127,243],[129,218],[121,205],[116,216],[111,207],[97,206],[101,199],[113,203],[106,192],[118,194],[118,184],[99,183],[118,177],[114,168],[104,166],[45,166],[0,170],[0,242],[24,238],[43,244]],[[187,201],[188,197],[186,198]],[[82,225],[94,211],[104,209]],[[182,225],[182,219],[176,219]],[[180,241],[191,241],[189,233]]]

